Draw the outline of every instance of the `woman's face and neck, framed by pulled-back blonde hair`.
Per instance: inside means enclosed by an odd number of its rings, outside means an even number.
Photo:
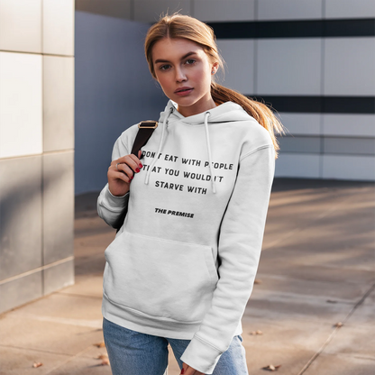
[[[187,117],[215,107],[210,85],[218,63],[212,64],[197,43],[183,38],[157,41],[152,61],[164,94],[178,104],[180,114]],[[186,90],[178,92],[183,87]]]

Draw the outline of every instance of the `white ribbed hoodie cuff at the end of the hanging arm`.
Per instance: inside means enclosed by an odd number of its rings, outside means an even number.
[[[222,354],[223,352],[220,352],[214,346],[194,336],[185,352],[181,355],[180,360],[193,369],[208,375],[214,372]]]

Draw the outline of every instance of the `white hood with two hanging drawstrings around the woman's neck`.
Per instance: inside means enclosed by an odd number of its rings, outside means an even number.
[[[193,114],[191,116],[185,117],[184,115],[180,114],[177,109],[178,105],[176,102],[169,99],[168,104],[166,105],[163,112],[160,113],[159,118],[159,126],[161,125],[161,137],[159,143],[158,152],[155,154],[151,162],[151,168],[146,173],[146,177],[144,179],[144,183],[148,184],[150,179],[151,170],[154,167],[157,161],[157,155],[160,154],[162,150],[162,144],[164,141],[165,136],[165,129],[168,127],[169,123],[174,123],[176,121],[185,123],[188,125],[201,125],[205,124],[206,128],[206,149],[207,149],[207,156],[209,160],[209,169],[211,175],[211,183],[212,183],[212,190],[213,193],[216,193],[216,184],[215,184],[215,173],[212,166],[212,152],[211,152],[211,144],[210,144],[210,136],[209,136],[209,126],[208,124],[212,125],[215,123],[226,123],[226,122],[238,122],[238,121],[249,121],[252,117],[247,114],[247,112],[242,108],[241,105],[237,105],[233,102],[225,102],[222,105],[217,105],[215,108],[209,109],[205,112],[200,114]]]

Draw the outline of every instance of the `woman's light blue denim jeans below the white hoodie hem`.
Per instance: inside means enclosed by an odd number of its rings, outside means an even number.
[[[190,340],[141,334],[103,317],[103,335],[113,375],[163,375],[168,366],[168,344],[178,366]],[[213,375],[249,375],[242,335],[233,337],[228,350],[217,361]]]

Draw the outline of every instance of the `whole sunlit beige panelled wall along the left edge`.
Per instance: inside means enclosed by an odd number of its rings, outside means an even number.
[[[74,1],[0,1],[0,313],[74,283]]]

